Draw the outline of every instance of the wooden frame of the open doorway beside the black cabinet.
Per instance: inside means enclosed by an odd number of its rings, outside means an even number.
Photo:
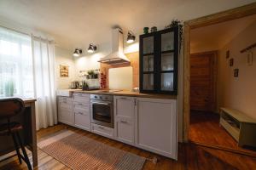
[[[183,48],[183,141],[189,142],[189,95],[190,95],[190,30],[202,26],[210,26],[220,22],[239,19],[256,14],[256,3],[250,3],[238,8],[232,8],[217,14],[210,14],[195,20],[184,22],[184,48]]]

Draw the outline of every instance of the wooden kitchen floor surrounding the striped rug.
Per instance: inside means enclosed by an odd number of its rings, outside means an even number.
[[[55,127],[49,127],[38,132],[38,140],[47,138],[52,133],[60,131],[63,128],[68,128],[70,130],[76,131],[86,135],[91,139],[95,139],[104,144],[111,145],[113,147],[119,148],[120,150],[126,150],[131,153],[137,154],[138,156],[143,156],[146,158],[157,157],[158,162],[154,164],[152,161],[146,161],[143,170],[193,170],[193,169],[256,169],[256,159],[250,156],[243,156],[231,153],[224,150],[215,150],[207,148],[197,144],[179,144],[178,145],[178,161],[166,158],[165,156],[159,156],[154,153],[137,149],[128,144],[122,144],[120,142],[114,141],[112,139],[107,139],[102,136],[88,133],[83,130],[79,130],[74,127],[68,127],[66,125],[57,125]],[[29,154],[30,159],[32,159],[31,154]],[[0,170],[2,169],[26,169],[26,164],[22,163],[20,166],[17,157],[15,156],[8,161],[0,162]],[[60,161],[55,160],[52,156],[47,155],[42,150],[38,150],[38,169],[44,170],[58,170],[58,169],[69,169],[63,165]]]

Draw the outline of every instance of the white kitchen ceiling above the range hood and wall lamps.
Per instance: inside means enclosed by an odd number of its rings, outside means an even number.
[[[111,28],[137,35],[144,26],[163,29],[173,19],[190,20],[254,0],[1,0],[0,20],[46,32],[58,46],[86,47],[111,41]]]

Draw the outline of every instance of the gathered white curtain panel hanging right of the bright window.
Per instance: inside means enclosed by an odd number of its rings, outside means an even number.
[[[55,101],[55,46],[52,42],[32,36],[32,60],[37,128],[57,123]]]

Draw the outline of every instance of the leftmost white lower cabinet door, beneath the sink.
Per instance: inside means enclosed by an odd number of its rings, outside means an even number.
[[[72,98],[58,98],[58,120],[59,122],[73,125],[73,106]]]

